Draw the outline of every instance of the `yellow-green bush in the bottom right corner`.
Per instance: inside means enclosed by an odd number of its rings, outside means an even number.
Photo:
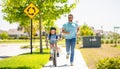
[[[120,69],[120,57],[102,59],[96,67],[97,69]]]

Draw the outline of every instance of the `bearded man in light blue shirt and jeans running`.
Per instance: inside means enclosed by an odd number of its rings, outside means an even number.
[[[62,32],[66,39],[66,59],[69,58],[70,55],[70,63],[73,66],[74,62],[74,49],[76,45],[76,36],[78,32],[78,24],[73,22],[73,15],[68,15],[68,22],[63,25]]]

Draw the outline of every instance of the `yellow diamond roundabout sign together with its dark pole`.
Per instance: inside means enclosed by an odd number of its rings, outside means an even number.
[[[30,53],[32,54],[32,19],[33,17],[35,17],[35,15],[37,15],[37,13],[39,13],[39,9],[33,4],[30,3],[25,9],[24,9],[24,13],[26,13],[29,18],[31,19],[30,24],[31,24],[31,34],[30,34]]]

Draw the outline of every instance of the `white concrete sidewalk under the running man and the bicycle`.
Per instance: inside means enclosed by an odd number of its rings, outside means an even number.
[[[70,66],[69,59],[66,59],[65,48],[61,49],[60,57],[57,58],[57,67],[52,61],[48,62],[42,69],[89,69],[79,50],[75,50],[74,66]]]

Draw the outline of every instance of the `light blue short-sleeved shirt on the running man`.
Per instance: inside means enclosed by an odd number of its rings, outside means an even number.
[[[70,23],[67,22],[63,25],[63,29],[65,30],[65,32],[70,32],[70,34],[65,34],[65,38],[66,39],[72,39],[72,38],[76,38],[76,33],[77,33],[77,28],[78,28],[78,24],[76,23]]]

